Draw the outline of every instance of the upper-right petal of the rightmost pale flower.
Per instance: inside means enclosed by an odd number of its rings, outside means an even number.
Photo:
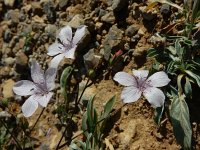
[[[159,71],[151,75],[146,82],[149,82],[153,87],[162,87],[167,85],[170,79],[164,71]]]

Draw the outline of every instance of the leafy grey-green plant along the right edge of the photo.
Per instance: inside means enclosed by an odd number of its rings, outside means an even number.
[[[164,50],[150,49],[148,57],[155,58],[151,71],[158,71],[160,66],[171,78],[172,82],[165,92],[168,104],[161,111],[157,110],[157,123],[160,123],[164,110],[169,111],[174,135],[184,149],[192,149],[192,128],[187,101],[193,97],[193,86],[200,87],[200,57],[196,54],[193,30],[200,17],[200,1],[184,1],[183,16],[185,23],[182,35],[168,36]],[[158,119],[159,118],[159,119]]]

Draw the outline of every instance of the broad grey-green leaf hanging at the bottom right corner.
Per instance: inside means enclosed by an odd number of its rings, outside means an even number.
[[[170,109],[170,117],[174,135],[184,149],[191,149],[192,129],[190,125],[189,109],[185,102],[185,96],[173,97]]]

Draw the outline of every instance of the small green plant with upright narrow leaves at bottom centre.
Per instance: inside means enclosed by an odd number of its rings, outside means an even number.
[[[104,130],[109,114],[113,108],[115,97],[112,97],[110,100],[108,100],[100,116],[98,116],[93,102],[94,97],[88,102],[87,111],[82,118],[82,130],[85,140],[74,140],[70,145],[70,148],[73,150],[104,149]]]

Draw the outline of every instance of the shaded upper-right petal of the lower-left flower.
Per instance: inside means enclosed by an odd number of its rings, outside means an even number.
[[[49,91],[55,88],[55,78],[56,78],[57,69],[56,68],[48,68],[45,72],[45,80],[47,84],[47,89]]]

